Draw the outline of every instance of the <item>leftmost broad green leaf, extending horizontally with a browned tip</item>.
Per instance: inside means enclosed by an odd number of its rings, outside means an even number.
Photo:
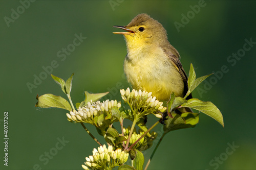
[[[69,102],[66,99],[61,98],[61,96],[53,95],[53,94],[44,94],[37,98],[38,102],[36,103],[36,107],[41,108],[49,108],[56,107],[60,109],[66,109],[68,111],[72,111],[72,108]]]

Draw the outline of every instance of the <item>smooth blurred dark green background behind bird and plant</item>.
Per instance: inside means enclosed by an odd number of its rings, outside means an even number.
[[[71,91],[74,103],[84,99],[85,90],[111,91],[108,98],[121,100],[117,88],[130,86],[122,69],[126,46],[121,35],[112,34],[119,31],[112,26],[127,25],[139,13],[147,13],[162,23],[187,73],[190,63],[198,77],[220,71],[225,65],[229,70],[222,78],[220,74],[208,78],[210,86],[199,86],[206,91],[193,93],[194,98],[218,106],[225,128],[201,114],[195,128],[166,135],[148,169],[255,169],[256,114],[252,106],[256,94],[256,45],[251,44],[239,60],[227,59],[232,53],[243,52],[245,39],[256,41],[256,2],[207,0],[197,14],[191,12],[190,6],[198,4],[199,1],[38,0],[25,9],[19,1],[1,1],[1,169],[82,169],[84,158],[92,155],[97,143],[79,124],[67,121],[65,110],[35,107],[36,94],[65,97],[49,75],[31,91],[27,84],[34,84],[34,76],[44,72],[42,67],[55,61],[53,75],[67,80],[75,72]],[[16,19],[10,21],[12,9],[20,14],[18,18],[13,14]],[[182,23],[182,14],[187,13],[189,22],[178,32],[174,22]],[[75,34],[87,38],[66,59],[59,58],[57,53],[73,44]],[[8,167],[3,165],[5,111],[9,113]],[[148,118],[149,125],[155,121],[154,117]],[[100,138],[92,126],[88,128]],[[161,126],[155,131],[161,133]],[[58,139],[66,141],[60,150],[54,149]],[[237,146],[232,153],[230,144]],[[48,159],[45,154],[50,151],[54,156]],[[152,151],[144,152],[146,161]]]

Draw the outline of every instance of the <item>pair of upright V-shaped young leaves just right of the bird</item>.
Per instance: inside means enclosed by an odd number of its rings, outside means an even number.
[[[188,80],[187,80],[187,85],[188,85],[188,90],[186,95],[184,96],[184,99],[187,98],[187,96],[193,91],[195,90],[195,88],[201,84],[207,77],[211,76],[212,74],[206,75],[206,76],[202,76],[198,79],[196,79],[196,72],[194,70],[193,64],[190,64],[190,70],[189,70],[189,76],[188,76]]]

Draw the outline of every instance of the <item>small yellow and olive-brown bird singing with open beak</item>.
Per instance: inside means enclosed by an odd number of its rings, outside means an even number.
[[[186,94],[187,76],[180,55],[168,42],[161,23],[139,14],[127,26],[113,27],[126,31],[114,34],[124,35],[127,55],[123,69],[133,88],[152,92],[160,101],[168,101],[172,92],[182,97]]]

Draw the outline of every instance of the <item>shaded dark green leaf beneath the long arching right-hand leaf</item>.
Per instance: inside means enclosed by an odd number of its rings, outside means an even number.
[[[181,115],[173,113],[173,116],[164,121],[164,134],[174,130],[194,128],[199,122],[198,113],[182,113]]]

